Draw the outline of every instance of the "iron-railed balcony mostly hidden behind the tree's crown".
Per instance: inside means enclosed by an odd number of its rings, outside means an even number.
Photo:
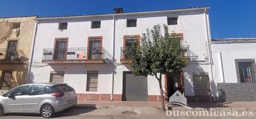
[[[192,52],[189,49],[189,45],[182,45],[182,48],[184,49],[184,58],[186,58],[189,61],[196,61],[198,60],[198,55],[196,55],[194,52]],[[129,60],[129,57],[127,55],[125,55],[125,49],[124,47],[121,47],[121,63],[127,63],[131,60]],[[132,48],[129,48],[129,50],[132,50]]]

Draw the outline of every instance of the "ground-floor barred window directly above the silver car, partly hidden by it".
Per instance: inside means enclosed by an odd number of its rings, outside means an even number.
[[[63,83],[64,82],[64,71],[51,71],[50,82]]]

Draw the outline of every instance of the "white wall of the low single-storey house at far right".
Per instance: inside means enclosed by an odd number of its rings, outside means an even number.
[[[256,59],[255,46],[255,39],[221,39],[212,41],[215,81],[217,83],[238,83],[235,59]]]

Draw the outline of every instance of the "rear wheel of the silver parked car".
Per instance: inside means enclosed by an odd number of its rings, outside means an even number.
[[[51,105],[44,105],[41,108],[40,112],[41,112],[42,117],[44,117],[44,118],[51,118],[55,114],[54,109]]]

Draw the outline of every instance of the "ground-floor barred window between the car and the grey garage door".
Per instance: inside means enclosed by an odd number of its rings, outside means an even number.
[[[97,92],[98,71],[87,71],[87,91]]]

